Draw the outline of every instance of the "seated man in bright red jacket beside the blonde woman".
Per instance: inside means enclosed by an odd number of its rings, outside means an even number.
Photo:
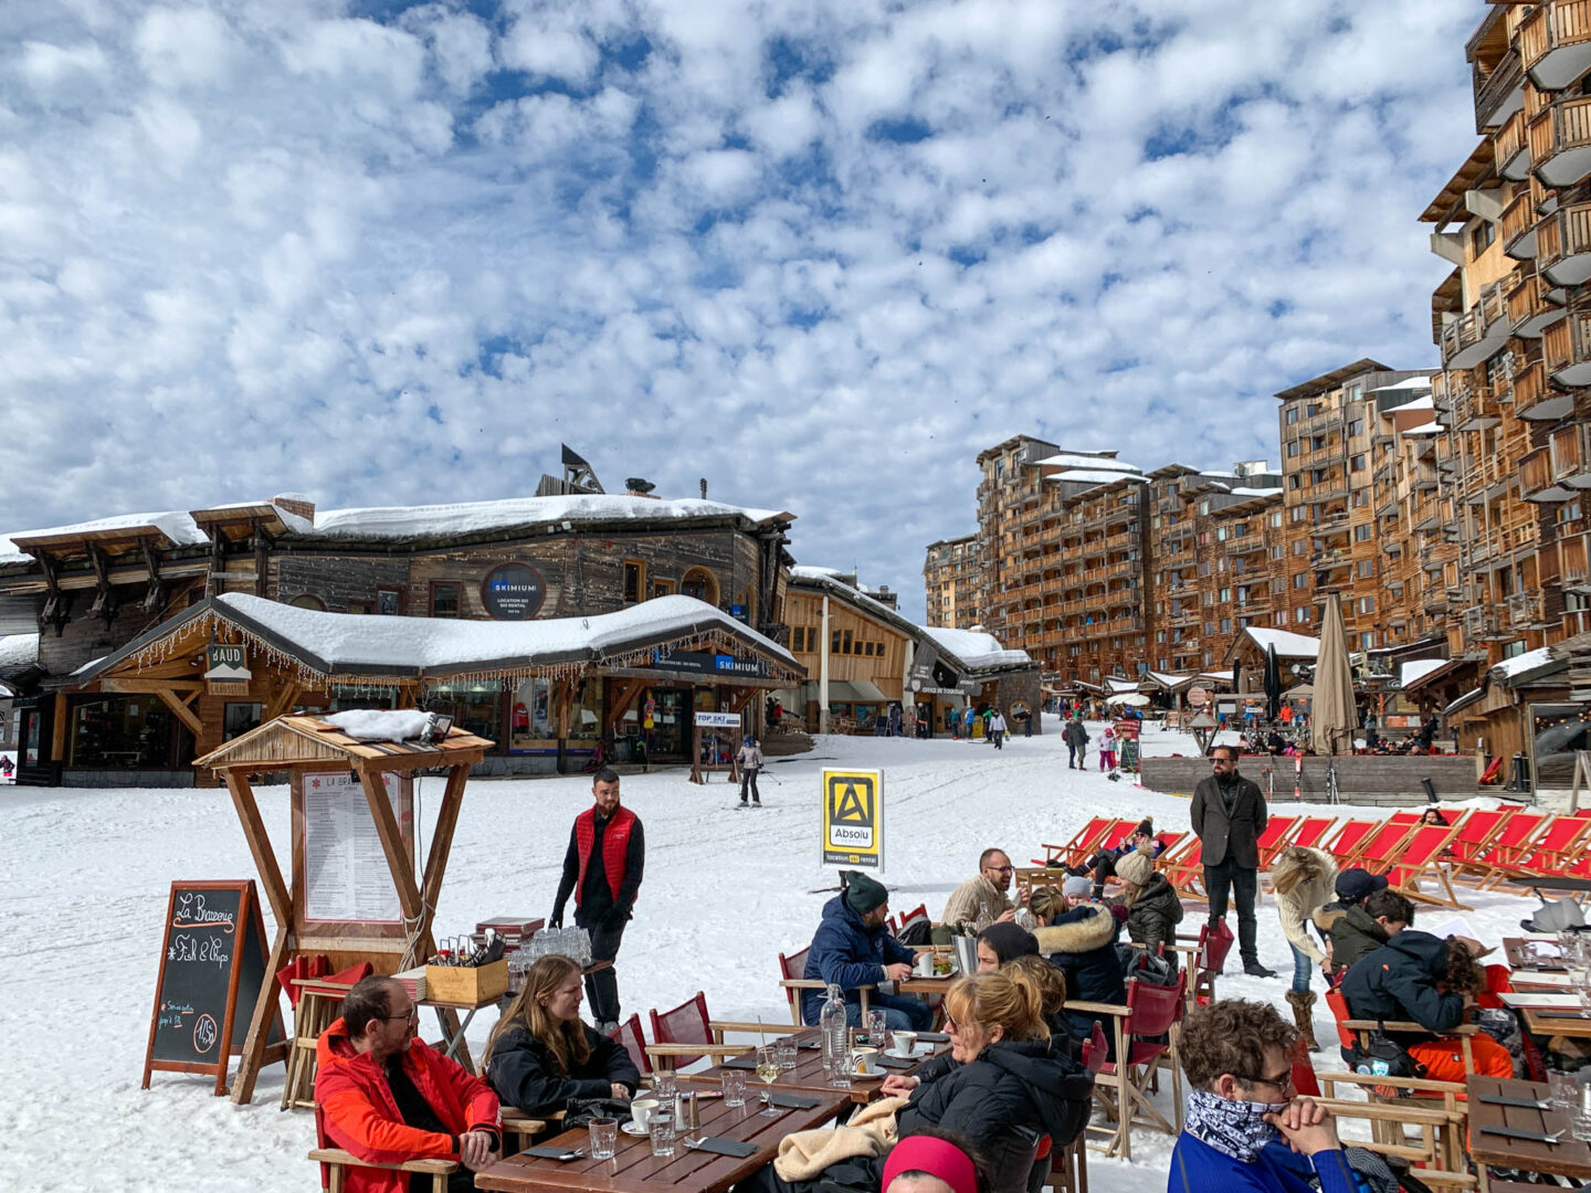
[[[391,978],[364,978],[342,1001],[342,1018],[315,1045],[315,1101],[326,1137],[372,1164],[458,1160],[449,1190],[474,1188],[503,1136],[498,1098],[480,1077],[415,1039],[420,1008]],[[430,1188],[431,1179],[423,1177]],[[409,1177],[353,1168],[348,1193],[406,1193]]]

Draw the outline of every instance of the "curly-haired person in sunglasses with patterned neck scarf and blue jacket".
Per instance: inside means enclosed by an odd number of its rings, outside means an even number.
[[[1225,999],[1188,1012],[1177,1048],[1190,1093],[1168,1193],[1395,1193],[1378,1156],[1344,1152],[1332,1115],[1297,1096],[1297,1040],[1268,1002]]]

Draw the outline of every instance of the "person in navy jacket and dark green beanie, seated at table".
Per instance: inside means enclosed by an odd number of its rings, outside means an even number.
[[[861,1024],[861,989],[881,981],[904,981],[912,975],[916,951],[907,948],[885,927],[889,892],[861,870],[840,870],[840,894],[823,905],[823,921],[807,951],[802,977],[838,986],[845,994],[845,1016]],[[826,994],[802,991],[802,1018],[816,1023]],[[901,994],[869,994],[869,1004],[885,1012],[891,1031],[928,1031],[934,1012],[921,999]]]

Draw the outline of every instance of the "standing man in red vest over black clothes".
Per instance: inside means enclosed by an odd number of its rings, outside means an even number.
[[[614,961],[641,891],[646,835],[640,818],[619,806],[617,771],[603,767],[592,776],[592,800],[570,830],[570,851],[563,856],[563,878],[549,923],[563,926],[563,905],[573,891],[574,924],[592,934],[592,959]],[[619,1029],[619,978],[613,969],[587,975],[585,1001],[598,1032],[608,1036]]]

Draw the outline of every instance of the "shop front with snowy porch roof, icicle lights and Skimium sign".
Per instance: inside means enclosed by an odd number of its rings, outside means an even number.
[[[19,760],[46,784],[189,784],[193,757],[285,713],[425,708],[495,743],[477,773],[570,771],[598,749],[687,762],[697,711],[754,716],[803,678],[783,647],[687,596],[466,625],[229,593],[100,660],[80,690],[24,706]]]

